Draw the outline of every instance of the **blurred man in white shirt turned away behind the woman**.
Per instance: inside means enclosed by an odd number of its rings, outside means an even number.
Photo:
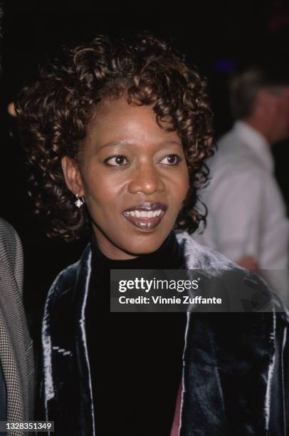
[[[231,87],[236,123],[209,161],[202,200],[207,227],[196,239],[248,269],[261,269],[288,303],[288,219],[271,147],[289,137],[289,77],[249,69]],[[268,271],[268,270],[278,270]]]

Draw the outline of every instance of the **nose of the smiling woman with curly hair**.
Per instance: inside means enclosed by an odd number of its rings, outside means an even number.
[[[135,168],[128,190],[131,194],[143,192],[144,194],[154,194],[164,190],[164,182],[157,167],[153,164],[140,165]]]

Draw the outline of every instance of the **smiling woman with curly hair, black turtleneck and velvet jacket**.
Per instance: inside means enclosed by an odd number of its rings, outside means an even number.
[[[37,212],[51,234],[91,234],[43,318],[56,434],[282,434],[285,316],[109,313],[110,269],[238,268],[189,236],[211,155],[199,74],[153,36],[100,36],[43,68],[17,111]]]

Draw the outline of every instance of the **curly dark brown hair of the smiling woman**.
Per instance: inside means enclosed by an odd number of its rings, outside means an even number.
[[[148,33],[112,41],[97,36],[91,43],[62,48],[40,69],[16,102],[19,128],[29,165],[28,192],[37,214],[51,222],[49,236],[80,237],[88,211],[75,207],[65,185],[61,158],[78,160],[95,105],[125,95],[132,105],[153,105],[156,121],[169,120],[177,131],[189,167],[190,189],[175,228],[189,233],[205,222],[196,209],[197,190],[206,184],[205,160],[211,149],[211,120],[206,83],[168,43]]]

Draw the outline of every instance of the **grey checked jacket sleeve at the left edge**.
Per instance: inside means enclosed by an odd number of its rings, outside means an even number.
[[[0,360],[8,421],[33,419],[33,348],[23,302],[23,254],[18,234],[0,219]],[[20,430],[8,433],[23,435]]]

